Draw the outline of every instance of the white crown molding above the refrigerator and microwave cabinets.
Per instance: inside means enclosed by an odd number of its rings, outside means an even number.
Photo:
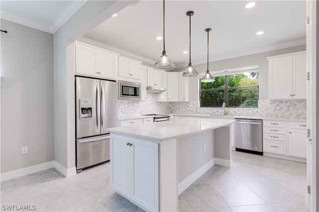
[[[102,49],[106,49],[106,50],[118,53],[118,54],[120,54],[122,56],[125,56],[125,57],[128,57],[128,58],[132,58],[132,59],[135,59],[135,60],[138,60],[138,61],[142,61],[144,63],[148,63],[148,64],[155,64],[156,63],[156,61],[151,60],[149,58],[145,58],[145,57],[142,57],[140,55],[136,55],[136,54],[124,51],[122,49],[118,49],[118,48],[115,48],[113,46],[109,46],[109,45],[106,45],[106,44],[103,44],[103,43],[100,43],[100,42],[97,42],[97,41],[94,41],[94,40],[91,40],[91,39],[88,39],[88,38],[85,38],[85,37],[79,38],[78,41],[82,41],[84,43],[91,44],[93,46],[97,46],[97,47],[100,47]]]

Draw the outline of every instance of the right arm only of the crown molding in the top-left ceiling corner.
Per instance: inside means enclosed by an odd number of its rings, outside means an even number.
[[[55,33],[87,0],[72,0],[50,25],[51,33]]]

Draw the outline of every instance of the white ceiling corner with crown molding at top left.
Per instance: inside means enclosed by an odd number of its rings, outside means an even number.
[[[54,33],[86,0],[1,0],[1,18]]]

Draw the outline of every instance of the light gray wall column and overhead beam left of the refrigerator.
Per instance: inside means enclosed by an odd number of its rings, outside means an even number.
[[[75,167],[74,70],[67,69],[67,45],[120,11],[131,1],[87,1],[53,35],[54,159]]]

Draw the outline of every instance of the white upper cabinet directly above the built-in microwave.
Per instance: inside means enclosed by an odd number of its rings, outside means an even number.
[[[120,56],[119,76],[140,79],[141,62]]]

